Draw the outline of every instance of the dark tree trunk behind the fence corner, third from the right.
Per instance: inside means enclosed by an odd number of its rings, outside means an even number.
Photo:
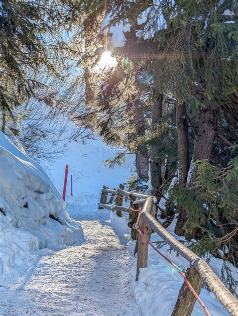
[[[152,134],[156,131],[157,125],[162,118],[162,106],[163,106],[163,94],[158,93],[154,89],[154,102],[152,106],[152,122],[151,130]],[[156,194],[157,190],[162,184],[161,177],[161,161],[157,158],[157,146],[156,144],[151,145],[150,147],[150,176],[151,176],[151,185],[152,189]]]

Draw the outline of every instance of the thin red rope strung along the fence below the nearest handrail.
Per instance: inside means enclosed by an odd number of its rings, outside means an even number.
[[[138,229],[138,223],[139,223],[139,219],[140,219],[140,215],[141,212],[139,213],[138,219],[137,219],[137,223],[136,225],[134,225],[134,228],[138,231],[138,233],[146,240],[146,242],[156,251],[158,252],[159,255],[161,255],[166,261],[168,261],[170,264],[172,264],[172,266],[174,266],[177,271],[182,275],[185,283],[187,284],[188,288],[190,289],[190,291],[192,292],[192,294],[194,295],[194,297],[198,300],[199,304],[202,306],[205,314],[207,316],[211,316],[209,311],[206,309],[206,306],[204,305],[204,303],[202,302],[202,300],[200,299],[200,297],[197,295],[196,291],[194,290],[194,288],[192,287],[192,285],[190,284],[190,282],[188,281],[186,275],[179,270],[179,267],[173,263],[168,257],[166,257],[162,252],[160,252],[150,241],[149,239]]]

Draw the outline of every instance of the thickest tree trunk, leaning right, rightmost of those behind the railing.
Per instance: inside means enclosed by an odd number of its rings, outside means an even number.
[[[193,160],[188,172],[187,187],[191,186],[197,177],[197,165],[194,164],[196,160],[211,159],[213,142],[216,136],[217,120],[218,120],[218,109],[212,100],[207,100],[206,108],[200,112],[200,120],[198,133],[195,141]],[[180,212],[175,232],[179,236],[184,235],[186,239],[190,240],[194,238],[197,231],[194,230],[191,234],[185,233],[183,227],[187,222],[187,214],[183,209]]]

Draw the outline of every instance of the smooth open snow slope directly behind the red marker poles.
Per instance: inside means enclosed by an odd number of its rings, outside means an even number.
[[[67,134],[69,134],[70,129],[75,128],[75,125],[69,123]],[[120,183],[127,181],[134,170],[135,156],[133,154],[128,155],[123,166],[115,166],[114,168],[104,166],[103,161],[113,158],[118,151],[120,149],[103,144],[101,138],[94,134],[93,139],[78,139],[69,142],[64,157],[60,157],[53,163],[44,161],[42,165],[62,192],[65,165],[68,164],[67,207],[72,209],[75,204],[76,208],[92,208],[97,207],[100,190],[104,184],[110,188],[117,188]],[[73,176],[73,198],[70,195],[71,174]]]

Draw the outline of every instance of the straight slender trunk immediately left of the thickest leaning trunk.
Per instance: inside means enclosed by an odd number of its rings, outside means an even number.
[[[179,187],[186,185],[187,174],[189,169],[188,158],[188,122],[186,117],[185,103],[176,104],[176,125],[178,133],[178,182]],[[181,236],[184,234],[184,224],[187,220],[185,209],[182,205],[177,205],[177,213],[179,214],[175,226],[175,234]]]

